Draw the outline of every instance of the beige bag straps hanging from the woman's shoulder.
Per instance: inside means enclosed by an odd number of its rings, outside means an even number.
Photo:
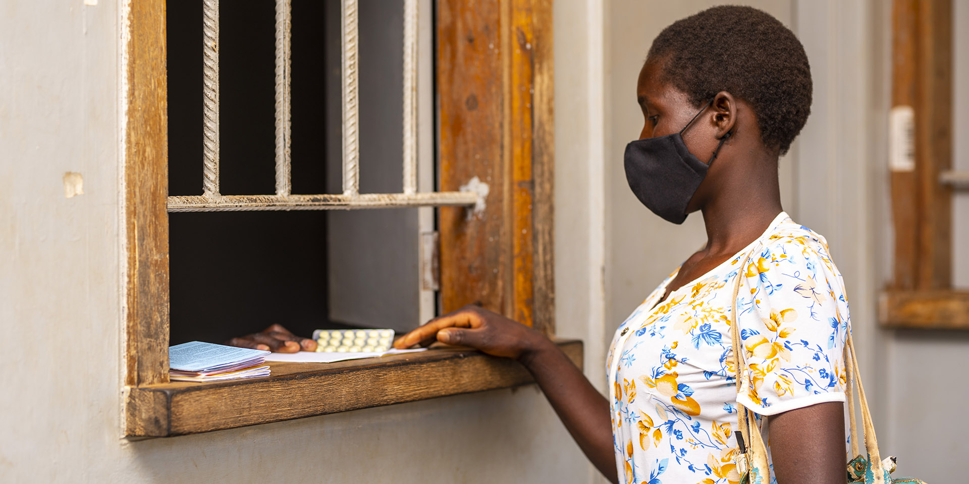
[[[736,281],[734,284],[734,296],[733,303],[731,306],[731,340],[734,347],[734,361],[736,369],[736,388],[737,393],[740,392],[742,387],[741,382],[743,381],[743,376],[747,373],[747,361],[746,361],[746,351],[743,350],[743,345],[740,340],[740,329],[738,327],[737,321],[739,320],[739,314],[737,313],[737,295],[740,292],[740,283],[743,281],[743,274],[747,266],[747,262],[750,257],[753,256],[756,251],[757,246],[754,247],[751,252],[747,253],[746,257],[743,258],[743,263],[740,264],[738,270]],[[864,436],[864,447],[868,453],[868,470],[872,473],[870,479],[866,479],[867,482],[872,482],[874,484],[886,484],[886,472],[882,464],[881,454],[878,451],[878,440],[875,438],[875,426],[872,423],[871,411],[868,408],[868,400],[864,395],[864,388],[861,385],[861,375],[858,367],[858,358],[855,356],[855,345],[851,338],[851,327],[848,327],[847,339],[845,342],[845,374],[846,374],[846,388],[845,394],[848,404],[848,415],[851,422],[851,443],[852,443],[852,454],[854,456],[859,455],[859,430],[858,423],[855,418],[855,398],[857,397],[861,407],[861,425],[863,426],[863,436]],[[849,360],[851,363],[849,364]],[[855,393],[855,387],[857,385],[858,393]],[[756,425],[752,424],[755,421],[754,411],[745,408],[742,404],[737,402],[737,430],[740,432],[744,442],[746,443],[746,461],[748,471],[750,472],[749,482],[757,482],[757,476],[761,475],[766,480],[769,481],[769,467],[767,465],[767,448],[764,443],[764,439],[761,436],[760,430]],[[889,480],[891,482],[891,479]]]

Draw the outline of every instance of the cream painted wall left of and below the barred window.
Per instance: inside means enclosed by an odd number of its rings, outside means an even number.
[[[16,338],[0,351],[0,482],[588,475],[534,387],[122,439],[119,17],[110,0],[0,2],[0,327]],[[83,195],[64,196],[67,171],[81,173]]]

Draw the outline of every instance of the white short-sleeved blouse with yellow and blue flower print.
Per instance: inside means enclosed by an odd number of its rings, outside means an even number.
[[[737,403],[773,415],[845,401],[844,283],[824,237],[784,212],[750,246],[658,304],[678,270],[626,318],[610,347],[620,482],[736,484]],[[730,328],[738,274],[749,367],[739,391]],[[757,420],[766,441],[766,419]]]

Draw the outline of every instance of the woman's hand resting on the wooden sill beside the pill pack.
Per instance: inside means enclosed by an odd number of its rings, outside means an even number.
[[[549,343],[542,333],[524,324],[479,306],[468,305],[431,319],[393,342],[393,348],[426,347],[434,340],[515,359]]]

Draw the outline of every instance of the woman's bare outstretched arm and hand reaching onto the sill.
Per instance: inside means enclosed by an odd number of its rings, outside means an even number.
[[[609,402],[544,335],[512,319],[466,306],[407,333],[394,347],[429,345],[435,340],[521,362],[586,457],[612,482],[617,481]]]

